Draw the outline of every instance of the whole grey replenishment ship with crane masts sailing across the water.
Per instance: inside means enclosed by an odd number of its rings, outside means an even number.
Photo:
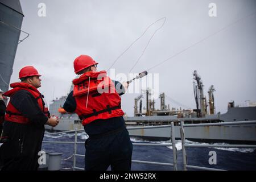
[[[194,93],[196,109],[170,109],[165,104],[165,94],[161,93],[160,109],[155,109],[155,101],[150,99],[150,89],[146,90],[146,109],[142,110],[142,95],[134,99],[134,117],[124,116],[129,127],[170,125],[174,122],[175,138],[180,137],[180,122],[191,123],[217,123],[240,122],[256,120],[256,102],[247,102],[247,106],[236,106],[234,101],[228,103],[228,111],[224,114],[217,113],[214,106],[214,86],[208,91],[209,101],[204,96],[203,82],[196,71],[193,72]],[[72,86],[71,86],[72,89]],[[49,105],[50,113],[60,118],[56,127],[46,126],[51,131],[68,131],[82,129],[81,121],[77,114],[67,113],[62,107],[67,96],[56,98]],[[139,107],[138,107],[139,102]],[[209,111],[208,111],[209,110]],[[150,140],[170,139],[170,127],[159,129],[129,130],[130,136],[148,138]],[[186,138],[189,140],[204,140],[213,142],[242,142],[256,143],[256,125],[228,125],[228,126],[199,126],[187,127]]]

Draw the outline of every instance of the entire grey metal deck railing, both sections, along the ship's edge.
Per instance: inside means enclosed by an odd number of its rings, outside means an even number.
[[[180,122],[180,136],[181,136],[181,145],[182,145],[182,154],[183,154],[183,169],[187,171],[187,168],[193,169],[203,169],[203,170],[212,170],[212,171],[222,171],[223,169],[217,168],[208,168],[208,167],[200,167],[200,166],[191,166],[188,165],[187,154],[185,151],[185,147],[220,147],[220,148],[256,148],[256,145],[247,145],[247,144],[188,144],[185,142],[185,127],[199,127],[199,126],[225,126],[225,125],[249,125],[255,124],[256,121],[236,121],[236,122],[220,122],[220,123],[201,123],[201,124],[184,124],[184,121]],[[172,146],[173,151],[173,163],[160,163],[160,162],[151,162],[151,161],[143,161],[143,160],[132,160],[134,163],[143,163],[143,164],[156,164],[163,166],[173,166],[174,170],[177,170],[177,149],[176,149],[176,141],[175,141],[175,133],[174,133],[174,122],[171,122],[171,125],[161,125],[161,126],[143,126],[143,127],[127,127],[127,130],[137,130],[137,129],[156,129],[163,127],[171,127],[171,142],[164,144],[156,144],[156,143],[133,143],[135,146]],[[76,167],[76,156],[84,157],[85,155],[77,154],[77,144],[84,144],[84,142],[77,142],[77,133],[84,130],[70,130],[63,131],[58,133],[46,133],[46,134],[66,134],[66,133],[74,133],[75,132],[75,141],[74,142],[52,142],[52,141],[43,141],[44,143],[67,143],[74,144],[74,152],[73,152],[73,170],[79,169],[84,170],[84,168]]]

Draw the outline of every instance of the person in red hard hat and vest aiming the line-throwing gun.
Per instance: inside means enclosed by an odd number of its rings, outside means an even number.
[[[126,129],[121,109],[121,95],[126,92],[127,82],[110,80],[106,71],[97,71],[97,62],[88,55],[74,61],[79,78],[73,80],[74,88],[64,103],[64,109],[75,112],[82,120],[89,138],[85,142],[85,170],[127,171],[131,169],[133,144]],[[105,89],[98,91],[104,82]]]

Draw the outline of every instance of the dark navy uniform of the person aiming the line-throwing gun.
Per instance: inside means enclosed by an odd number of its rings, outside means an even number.
[[[119,95],[123,93],[122,84],[113,81]],[[69,93],[64,103],[68,112],[76,110],[76,100],[73,91]],[[133,144],[126,129],[123,117],[97,119],[84,126],[89,138],[85,142],[85,170],[105,171],[111,166],[113,171],[129,171],[131,169],[131,154]]]

